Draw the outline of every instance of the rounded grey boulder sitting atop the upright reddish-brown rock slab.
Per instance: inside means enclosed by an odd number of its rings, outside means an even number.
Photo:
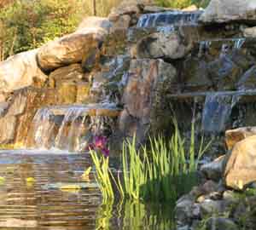
[[[177,60],[189,53],[191,45],[186,44],[177,32],[165,34],[156,32],[143,37],[131,50],[131,56],[137,58],[164,58]]]

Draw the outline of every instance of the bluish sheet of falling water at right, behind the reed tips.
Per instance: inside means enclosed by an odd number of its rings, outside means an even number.
[[[224,131],[230,119],[232,108],[236,105],[239,98],[239,95],[208,94],[202,113],[203,131],[211,133]]]

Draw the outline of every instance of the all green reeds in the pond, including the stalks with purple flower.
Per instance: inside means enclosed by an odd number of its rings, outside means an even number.
[[[195,124],[192,123],[189,150],[182,137],[177,121],[173,121],[174,133],[169,141],[162,136],[150,138],[149,145],[137,149],[136,136],[123,143],[122,172],[117,176],[109,168],[109,155],[104,144],[90,147],[90,155],[96,166],[96,181],[104,201],[114,198],[115,190],[120,198],[132,200],[175,201],[195,186],[198,163],[211,142],[204,144],[203,137],[195,152]],[[95,141],[96,143],[96,141]]]

